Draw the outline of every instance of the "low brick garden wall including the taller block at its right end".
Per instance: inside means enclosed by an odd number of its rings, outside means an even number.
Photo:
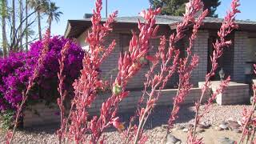
[[[201,86],[204,82],[198,82],[198,88],[192,88],[190,94],[186,97],[183,104],[194,104],[197,102],[201,96]],[[206,102],[210,94],[214,92],[220,82],[212,82],[209,90],[206,90],[206,94],[202,99]],[[170,106],[173,104],[173,98],[177,93],[177,89],[166,89],[161,90],[162,95],[159,98],[157,106]],[[130,91],[130,95],[125,98],[118,107],[118,112],[127,112],[136,109],[138,98],[142,95],[142,91]],[[102,102],[105,102],[107,98],[110,97],[110,93],[98,94],[98,98],[93,102],[89,109],[90,114],[99,114],[99,110],[102,107]],[[248,102],[250,100],[249,96],[249,86],[243,83],[230,82],[230,86],[224,90],[222,94],[218,94],[216,102],[219,105],[232,105],[241,104]],[[25,111],[24,116],[24,126],[35,126],[35,125],[45,125],[49,123],[59,122],[58,106],[55,105],[52,108],[48,108],[44,103],[38,103],[32,106],[30,110]],[[38,115],[39,114],[39,115]]]

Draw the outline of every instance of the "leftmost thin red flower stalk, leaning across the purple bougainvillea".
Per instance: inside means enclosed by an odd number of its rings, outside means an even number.
[[[26,87],[26,91],[22,93],[22,102],[17,106],[17,114],[14,121],[14,128],[11,131],[8,131],[6,134],[6,143],[12,143],[14,139],[15,130],[18,126],[18,120],[22,114],[23,106],[28,98],[28,94],[31,88],[34,86],[34,80],[38,78],[39,70],[43,66],[44,59],[46,58],[46,54],[49,50],[49,40],[50,40],[50,30],[46,30],[46,34],[44,35],[43,42],[42,42],[42,52],[38,58],[38,65],[34,68],[34,74],[31,75],[29,78],[28,86]]]

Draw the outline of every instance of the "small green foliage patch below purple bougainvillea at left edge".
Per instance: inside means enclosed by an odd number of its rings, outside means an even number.
[[[7,130],[13,125],[14,122],[14,110],[5,110],[1,113],[1,128]]]

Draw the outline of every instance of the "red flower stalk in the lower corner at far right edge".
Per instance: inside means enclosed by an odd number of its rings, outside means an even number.
[[[256,74],[256,65],[254,65],[254,74]],[[239,143],[243,142],[246,138],[246,143],[249,141],[251,137],[251,143],[255,143],[256,139],[254,140],[254,134],[256,129],[256,115],[254,115],[254,110],[256,109],[256,84],[253,84],[253,104],[250,110],[246,108],[242,111],[242,135],[239,140]]]

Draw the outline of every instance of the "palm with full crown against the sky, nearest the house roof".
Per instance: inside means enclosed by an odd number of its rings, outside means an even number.
[[[51,28],[51,22],[55,19],[56,22],[59,21],[59,17],[63,14],[61,11],[58,11],[59,7],[56,6],[55,2],[48,3],[46,8],[46,15],[48,15],[47,22],[49,24],[49,30]]]

